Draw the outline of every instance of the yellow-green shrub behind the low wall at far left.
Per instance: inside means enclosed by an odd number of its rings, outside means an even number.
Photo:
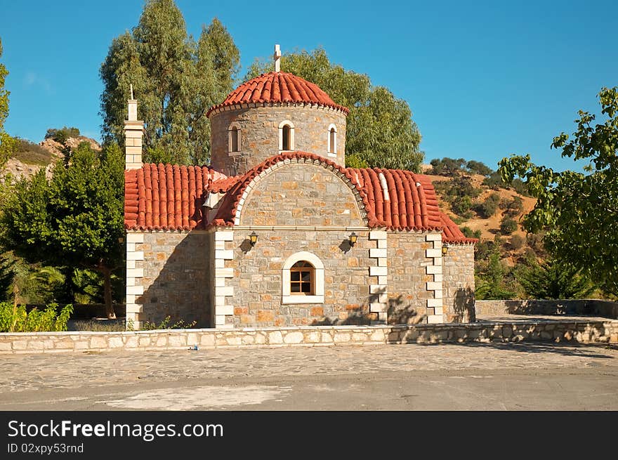
[[[25,305],[2,302],[0,332],[66,331],[73,305],[65,305],[60,314],[57,313],[57,308],[57,304],[50,303],[45,310],[33,308],[27,312]]]

